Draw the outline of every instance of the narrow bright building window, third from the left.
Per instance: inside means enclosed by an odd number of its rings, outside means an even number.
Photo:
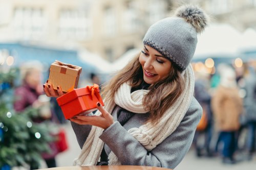
[[[103,19],[103,33],[104,36],[112,37],[116,34],[116,16],[114,9],[111,7],[106,7],[104,9],[104,19]]]

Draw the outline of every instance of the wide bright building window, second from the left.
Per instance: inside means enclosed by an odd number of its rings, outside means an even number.
[[[60,38],[76,40],[92,36],[92,23],[88,12],[61,10],[59,13],[58,35]]]

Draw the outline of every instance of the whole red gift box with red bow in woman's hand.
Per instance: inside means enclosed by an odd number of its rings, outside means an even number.
[[[74,89],[57,98],[57,103],[66,119],[97,110],[96,104],[98,102],[104,106],[97,84]]]

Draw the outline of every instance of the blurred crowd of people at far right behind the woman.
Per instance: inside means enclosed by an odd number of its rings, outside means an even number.
[[[252,160],[255,152],[255,66],[221,63],[213,75],[195,71],[195,98],[203,108],[196,156],[218,156],[225,164]]]

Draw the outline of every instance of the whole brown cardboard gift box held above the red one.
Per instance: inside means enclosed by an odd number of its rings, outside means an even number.
[[[48,83],[57,90],[60,86],[62,91],[70,92],[77,88],[82,67],[55,61],[51,64]]]

